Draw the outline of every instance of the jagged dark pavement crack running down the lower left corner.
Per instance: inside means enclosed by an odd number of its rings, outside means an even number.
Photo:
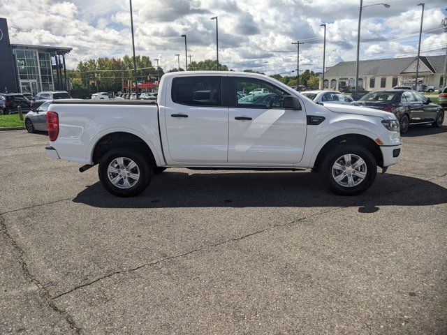
[[[25,262],[25,260],[24,260],[24,251],[22,248],[20,248],[20,246],[17,244],[17,242],[9,234],[8,228],[6,227],[5,218],[3,218],[3,216],[1,216],[1,214],[0,214],[0,228],[1,228],[0,232],[5,234],[6,238],[10,241],[13,248],[15,248],[15,250],[19,253],[19,257],[17,258],[17,261],[19,262],[19,264],[22,268],[22,274],[24,274],[24,276],[27,277],[29,279],[29,281],[31,281],[31,283],[34,283],[34,285],[36,285],[38,290],[40,290],[40,292],[41,292],[41,297],[43,297],[45,299],[47,305],[50,306],[53,311],[55,311],[59,315],[63,316],[65,318],[66,322],[68,323],[68,325],[70,326],[70,328],[75,330],[76,334],[82,334],[81,328],[76,325],[75,321],[73,320],[73,317],[70,314],[68,314],[66,311],[59,309],[59,307],[57,307],[56,304],[54,304],[54,301],[52,300],[50,293],[45,288],[45,286],[43,286],[43,284],[40,281],[38,281],[36,279],[36,277],[34,277],[31,274],[31,272],[28,269],[27,262]]]

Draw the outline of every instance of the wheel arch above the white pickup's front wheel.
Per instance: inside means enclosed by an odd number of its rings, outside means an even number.
[[[314,154],[314,160],[311,162],[311,166],[314,169],[318,169],[318,166],[323,161],[323,158],[332,147],[335,147],[340,144],[360,144],[364,147],[366,147],[371,154],[376,159],[376,163],[379,167],[383,166],[383,155],[382,151],[379,147],[379,144],[377,144],[372,137],[369,137],[367,135],[362,135],[358,133],[347,133],[342,135],[337,135],[335,137],[330,138],[327,140],[324,144],[321,145],[320,149],[318,150],[318,154]]]

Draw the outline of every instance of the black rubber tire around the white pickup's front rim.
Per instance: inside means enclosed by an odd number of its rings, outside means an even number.
[[[332,175],[332,166],[338,161],[338,159],[346,154],[351,154],[362,158],[366,164],[366,177],[355,186],[342,186],[335,181],[335,177]],[[353,161],[353,163],[356,163]],[[365,147],[361,147],[356,144],[339,145],[330,149],[328,154],[325,155],[323,161],[318,169],[318,173],[321,174],[324,184],[330,189],[330,191],[339,195],[357,195],[365,192],[369,186],[372,185],[377,174],[377,163],[374,156]],[[347,177],[347,176],[346,176]],[[351,175],[349,176],[351,177]],[[353,178],[355,175],[353,174]],[[358,181],[358,177],[356,177]]]

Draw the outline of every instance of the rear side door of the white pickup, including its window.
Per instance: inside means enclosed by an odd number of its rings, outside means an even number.
[[[226,163],[228,106],[222,105],[222,80],[216,75],[173,78],[163,107],[173,164]]]

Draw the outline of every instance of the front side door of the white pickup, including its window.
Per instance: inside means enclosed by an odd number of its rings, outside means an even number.
[[[228,164],[290,165],[301,161],[306,141],[305,110],[284,110],[284,96],[274,84],[233,77],[229,111]],[[265,89],[261,94],[244,93]]]

